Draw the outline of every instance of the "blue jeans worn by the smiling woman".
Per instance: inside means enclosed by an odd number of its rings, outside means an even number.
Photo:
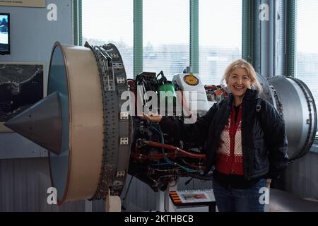
[[[261,179],[249,189],[232,189],[220,186],[213,179],[213,192],[216,206],[220,212],[264,212],[264,203],[260,198],[264,193],[260,189],[266,186],[266,179]]]

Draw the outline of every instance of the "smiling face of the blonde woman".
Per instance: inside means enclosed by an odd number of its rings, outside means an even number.
[[[232,71],[232,73],[230,73],[226,83],[235,100],[240,100],[240,102],[242,102],[246,90],[251,88],[253,85],[247,70],[240,67],[237,67]]]

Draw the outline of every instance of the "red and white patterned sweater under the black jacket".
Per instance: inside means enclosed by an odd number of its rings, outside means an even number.
[[[220,173],[243,175],[241,125],[242,105],[239,107],[236,123],[235,109],[232,107],[228,124],[220,136],[220,146],[216,150],[216,170]]]

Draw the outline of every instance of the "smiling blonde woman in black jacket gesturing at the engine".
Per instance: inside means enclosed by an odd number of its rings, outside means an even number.
[[[269,187],[288,165],[284,121],[259,98],[262,88],[247,61],[230,64],[222,81],[229,97],[195,124],[153,114],[143,118],[160,122],[170,136],[205,144],[206,172],[215,167],[213,191],[219,211],[264,211],[261,188]]]

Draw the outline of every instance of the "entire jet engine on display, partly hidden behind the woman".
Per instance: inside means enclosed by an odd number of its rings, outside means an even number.
[[[261,97],[285,120],[288,154],[293,160],[302,157],[317,130],[312,93],[297,78],[257,76],[264,88]],[[204,85],[189,70],[172,81],[163,71],[127,79],[114,44],[76,47],[56,42],[47,97],[5,125],[49,150],[52,186],[62,204],[120,195],[127,174],[154,191],[164,191],[178,177],[211,179],[203,175],[206,155],[199,143],[172,138],[159,124],[137,115],[159,112],[193,123],[226,97],[223,85]]]

